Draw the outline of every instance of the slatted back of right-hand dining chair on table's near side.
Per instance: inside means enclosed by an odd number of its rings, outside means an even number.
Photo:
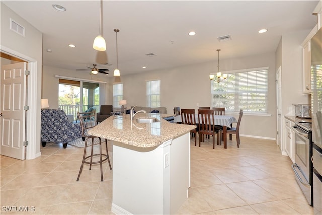
[[[214,122],[213,110],[198,109],[199,132],[204,134],[214,133],[211,122]]]

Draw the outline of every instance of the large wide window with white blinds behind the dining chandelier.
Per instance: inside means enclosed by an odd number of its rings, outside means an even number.
[[[220,83],[211,81],[212,107],[267,113],[268,67],[232,71],[227,75]]]

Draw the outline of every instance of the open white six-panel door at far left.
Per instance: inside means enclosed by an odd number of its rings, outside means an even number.
[[[26,67],[25,62],[3,65],[0,74],[0,153],[21,160],[25,159]]]

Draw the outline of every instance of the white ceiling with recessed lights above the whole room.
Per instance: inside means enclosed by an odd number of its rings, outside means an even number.
[[[116,68],[115,28],[120,29],[118,56],[122,76],[217,62],[216,49],[221,49],[220,60],[275,52],[282,34],[309,31],[316,25],[312,11],[318,3],[104,0],[103,36],[107,50],[100,52],[92,48],[99,34],[100,1],[2,2],[43,33],[43,65],[76,70],[95,63],[97,68],[108,68],[109,76]],[[53,4],[67,10],[56,11]],[[257,33],[262,28],[268,31]],[[188,36],[189,31],[197,34]],[[217,38],[225,35],[232,40],[219,42]],[[68,47],[70,43],[76,47]],[[52,49],[52,53],[46,49]],[[146,56],[148,53],[156,56]]]

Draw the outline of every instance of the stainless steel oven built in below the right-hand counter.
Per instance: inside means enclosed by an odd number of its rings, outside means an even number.
[[[310,123],[296,122],[295,131],[295,163],[292,168],[295,179],[300,186],[309,205],[313,203],[312,192],[312,135]]]

